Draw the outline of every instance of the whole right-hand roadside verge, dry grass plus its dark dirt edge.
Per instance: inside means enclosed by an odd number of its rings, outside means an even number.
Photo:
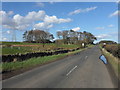
[[[119,76],[119,63],[118,59],[114,57],[112,54],[107,52],[104,48],[101,48],[102,54],[106,57],[108,64],[106,64],[106,67],[110,73],[110,76],[112,77],[112,81],[116,87],[118,87],[118,84],[120,82],[120,76]],[[116,66],[117,65],[117,66]]]

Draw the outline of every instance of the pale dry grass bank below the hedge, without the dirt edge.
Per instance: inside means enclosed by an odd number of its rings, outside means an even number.
[[[119,73],[120,73],[120,60],[119,58],[114,57],[112,54],[110,54],[109,52],[107,52],[105,49],[102,49],[103,54],[106,56],[108,62],[111,64],[113,70],[115,71],[115,74],[117,75],[117,77],[119,77]]]

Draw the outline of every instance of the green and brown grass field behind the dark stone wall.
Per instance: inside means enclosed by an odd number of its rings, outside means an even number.
[[[2,45],[2,54],[25,54],[25,53],[30,53],[30,52],[42,52],[42,51],[51,51],[51,50],[57,50],[58,48],[60,49],[74,49],[80,47],[80,45],[67,45],[67,44],[62,44],[62,45],[56,45],[55,43],[50,43],[50,44],[45,44],[43,45],[41,43],[22,43],[22,42],[3,42]],[[18,46],[13,46],[12,45],[18,45]],[[23,45],[23,46],[19,46]],[[26,46],[26,45],[33,45],[33,46]],[[35,45],[35,46],[34,46]],[[36,46],[37,45],[37,46]]]

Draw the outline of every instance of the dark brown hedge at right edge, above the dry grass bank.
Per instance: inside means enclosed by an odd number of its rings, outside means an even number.
[[[120,44],[111,44],[104,47],[108,52],[113,54],[115,57],[120,58]]]

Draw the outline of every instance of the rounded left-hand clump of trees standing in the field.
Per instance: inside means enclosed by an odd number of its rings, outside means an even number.
[[[43,30],[30,30],[24,32],[23,39],[26,42],[43,43],[44,47],[44,44],[50,43],[54,39],[54,36]]]

